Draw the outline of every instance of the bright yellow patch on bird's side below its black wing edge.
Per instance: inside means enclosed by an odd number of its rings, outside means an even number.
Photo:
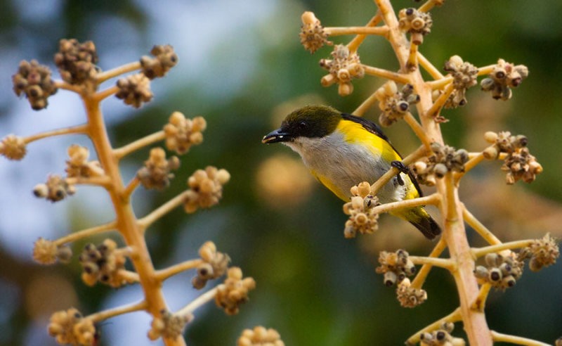
[[[337,129],[344,134],[344,139],[348,143],[358,143],[368,148],[373,155],[381,155],[383,160],[392,162],[402,160],[391,144],[381,139],[381,137],[367,131],[362,124],[351,120],[341,120]]]

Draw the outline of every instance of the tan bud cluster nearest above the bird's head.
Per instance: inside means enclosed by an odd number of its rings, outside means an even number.
[[[331,55],[332,59],[320,60],[320,67],[329,71],[328,75],[320,79],[320,83],[322,87],[337,83],[338,94],[348,96],[353,92],[351,79],[364,77],[365,69],[361,65],[358,54],[349,51],[343,44],[336,44]]]

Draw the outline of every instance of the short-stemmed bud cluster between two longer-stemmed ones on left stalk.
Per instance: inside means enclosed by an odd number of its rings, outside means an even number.
[[[145,188],[162,190],[170,186],[170,179],[174,174],[170,173],[180,167],[180,160],[172,156],[166,160],[166,152],[162,148],[152,148],[150,156],[145,161],[145,167],[138,169],[136,177]]]

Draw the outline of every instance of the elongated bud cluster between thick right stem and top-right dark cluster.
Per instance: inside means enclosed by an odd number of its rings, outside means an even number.
[[[445,71],[452,76],[452,86],[455,89],[445,102],[445,108],[457,108],[466,105],[466,90],[474,87],[478,82],[478,68],[462,60],[460,56],[452,56],[445,62]]]

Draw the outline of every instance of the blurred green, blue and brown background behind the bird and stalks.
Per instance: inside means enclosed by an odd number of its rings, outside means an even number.
[[[393,4],[416,6],[407,0]],[[60,90],[48,109],[34,112],[11,90],[22,59],[36,58],[55,71],[52,56],[59,39],[93,40],[103,70],[138,60],[154,44],[176,49],[177,67],[152,82],[154,101],[133,110],[111,98],[103,110],[116,147],[157,131],[174,110],[203,115],[208,122],[204,143],[182,158],[171,188],[162,193],[139,188],[133,195],[138,216],[183,191],[195,169],[215,165],[232,174],[220,205],[189,215],[178,208],[148,231],[157,268],[197,257],[200,245],[211,240],[257,281],[237,316],[226,316],[212,303],[198,309],[185,333],[189,345],[235,345],[242,329],[259,324],[276,328],[286,345],[401,345],[457,306],[452,278],[434,269],[424,287],[429,300],[415,309],[400,307],[395,290],[374,273],[378,252],[405,248],[426,255],[434,243],[388,215],[374,235],[344,239],[342,203],[309,177],[289,148],[261,144],[290,110],[325,103],[351,112],[383,83],[373,77],[356,80],[346,98],[335,87],[322,88],[325,71],[318,60],[331,49],[311,56],[298,37],[303,11],[314,11],[325,26],[364,25],[374,15],[372,1],[1,0],[0,5],[0,137],[84,122],[72,93]],[[557,0],[540,5],[450,0],[433,11],[432,32],[420,49],[438,67],[459,54],[477,66],[501,57],[530,70],[511,101],[492,100],[475,87],[464,108],[442,113],[450,120],[443,124],[450,145],[481,150],[485,131],[509,130],[528,136],[531,153],[544,167],[530,185],[507,186],[500,162],[484,162],[463,179],[462,200],[504,241],[547,232],[562,237],[561,12]],[[332,39],[347,43],[351,37]],[[397,68],[380,37],[367,39],[359,53],[362,63]],[[377,110],[366,117],[376,120]],[[387,134],[402,153],[418,145],[403,123]],[[112,220],[110,200],[98,188],[80,186],[75,196],[56,204],[32,196],[33,186],[47,174],[64,172],[72,143],[91,148],[85,138],[68,136],[32,143],[21,162],[0,158],[0,345],[53,345],[46,326],[55,310],[74,306],[91,314],[141,299],[136,286],[86,287],[76,259],[53,267],[32,262],[39,236],[55,239]],[[148,148],[123,162],[126,180],[147,157]],[[469,234],[475,245],[483,245],[473,231]],[[74,253],[85,243],[75,243]],[[171,309],[200,294],[190,284],[192,276],[166,281]],[[561,292],[561,264],[539,273],[525,270],[515,288],[490,295],[490,328],[554,342],[562,335]],[[142,312],[110,319],[100,326],[100,345],[161,345],[146,338],[149,325]],[[455,334],[462,335],[461,326]]]

